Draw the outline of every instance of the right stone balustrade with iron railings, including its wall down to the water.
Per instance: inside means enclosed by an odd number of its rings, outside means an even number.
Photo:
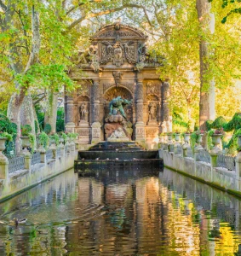
[[[178,150],[170,150],[172,147],[173,144],[166,143],[159,149],[159,157],[164,160],[164,166],[232,194],[241,195],[241,153],[232,157],[221,154],[221,150],[217,148],[209,153],[202,147],[192,150],[183,145],[183,154],[180,154]]]

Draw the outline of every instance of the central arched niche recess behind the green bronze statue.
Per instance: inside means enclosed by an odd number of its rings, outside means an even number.
[[[121,96],[123,99],[127,99],[131,101],[133,99],[132,93],[125,87],[123,86],[112,86],[108,90],[106,90],[104,94],[104,108],[105,108],[105,117],[109,113],[109,102],[112,101],[112,99]],[[133,106],[132,105],[127,105],[124,107],[124,112],[126,113],[127,119],[131,123],[133,123]]]

